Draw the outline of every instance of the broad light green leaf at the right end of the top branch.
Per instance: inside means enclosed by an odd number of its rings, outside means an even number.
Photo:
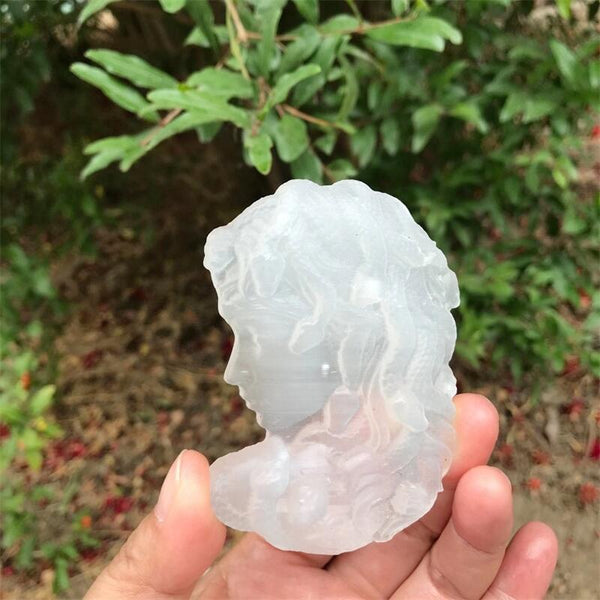
[[[446,40],[453,44],[462,42],[462,34],[450,23],[427,16],[369,29],[366,35],[373,40],[394,46],[410,46],[436,52],[444,50]]]

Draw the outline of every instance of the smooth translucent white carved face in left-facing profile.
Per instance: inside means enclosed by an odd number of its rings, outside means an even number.
[[[340,382],[336,357],[324,341],[303,352],[291,349],[302,317],[255,301],[224,316],[235,334],[225,381],[239,386],[262,427],[281,432],[324,406]]]

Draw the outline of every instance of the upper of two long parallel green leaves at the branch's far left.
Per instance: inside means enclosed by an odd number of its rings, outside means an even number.
[[[88,50],[85,57],[102,65],[109,73],[128,79],[142,88],[169,88],[178,84],[176,79],[133,54]]]

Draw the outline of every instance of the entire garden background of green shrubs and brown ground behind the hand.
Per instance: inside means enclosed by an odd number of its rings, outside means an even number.
[[[408,205],[458,274],[454,368],[497,401],[495,459],[525,504],[594,510],[599,8],[0,2],[15,597],[80,596],[182,445],[212,458],[260,436],[220,381],[231,340],[201,251],[291,177],[357,177]],[[561,573],[555,597],[587,597]]]

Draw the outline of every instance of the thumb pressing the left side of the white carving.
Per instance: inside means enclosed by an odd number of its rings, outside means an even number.
[[[210,507],[208,462],[184,450],[146,516],[84,600],[188,598],[225,541]]]

